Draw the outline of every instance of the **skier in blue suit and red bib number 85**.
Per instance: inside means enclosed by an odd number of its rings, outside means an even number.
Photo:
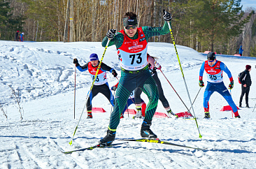
[[[233,89],[234,80],[232,78],[232,74],[230,73],[229,69],[223,62],[216,60],[214,52],[209,52],[207,54],[207,61],[204,61],[204,63],[201,65],[201,68],[199,71],[200,87],[204,87],[204,82],[203,82],[204,71],[206,71],[206,75],[208,79],[206,90],[204,91],[204,113],[205,113],[204,118],[205,119],[210,118],[208,101],[214,91],[217,91],[226,99],[227,103],[229,103],[229,105],[231,106],[235,117],[240,118],[236,104],[234,103],[231,94],[229,93],[227,87],[225,87],[225,84],[223,82],[222,74],[223,74],[223,71],[225,71],[225,73],[227,73],[227,76],[229,77],[229,80],[230,80],[229,89]]]

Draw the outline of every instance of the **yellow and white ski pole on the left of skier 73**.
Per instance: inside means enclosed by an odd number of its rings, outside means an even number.
[[[104,52],[103,52],[103,54],[102,54],[101,61],[99,61],[99,66],[98,66],[97,71],[96,71],[96,73],[95,73],[94,80],[93,80],[93,82],[92,82],[92,86],[91,86],[91,88],[90,88],[89,93],[87,94],[87,97],[86,97],[86,100],[85,100],[85,105],[83,106],[83,111],[85,110],[85,106],[86,106],[86,103],[87,103],[87,100],[88,100],[88,96],[90,97],[90,94],[91,94],[91,92],[92,92],[92,87],[94,86],[94,82],[95,82],[95,80],[96,80],[96,78],[97,78],[97,75],[98,75],[98,73],[99,73],[99,69],[101,68],[101,63],[102,63],[102,60],[103,60],[104,55],[105,55],[105,53],[106,53],[106,49],[108,48],[108,43],[109,43],[110,41],[111,41],[111,39],[108,38],[108,42],[107,42],[106,47],[105,47],[105,50],[104,50]],[[80,118],[79,118],[79,120],[78,120],[78,124],[79,124],[80,119],[81,119],[81,117],[82,117],[82,115],[83,115],[83,111],[82,111],[82,113],[81,113],[81,115],[80,115]],[[73,137],[75,136],[76,130],[78,129],[78,124],[76,125],[76,129],[75,129],[75,131],[73,132]],[[71,142],[69,142],[69,145],[72,145],[73,137],[72,137]]]

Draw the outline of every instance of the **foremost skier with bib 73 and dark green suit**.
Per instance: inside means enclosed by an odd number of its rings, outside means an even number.
[[[145,119],[141,125],[142,138],[157,138],[150,130],[152,117],[155,114],[158,103],[158,91],[155,80],[148,70],[148,38],[169,34],[167,22],[171,21],[171,14],[164,12],[163,27],[138,27],[137,15],[132,12],[125,13],[123,17],[124,29],[115,34],[115,29],[108,30],[102,41],[105,47],[115,45],[118,50],[118,58],[121,66],[121,78],[115,94],[115,106],[111,113],[110,123],[106,136],[99,140],[99,145],[111,145],[115,140],[116,129],[120,123],[120,115],[125,108],[127,99],[136,87],[140,87],[148,96],[148,105],[145,110]]]

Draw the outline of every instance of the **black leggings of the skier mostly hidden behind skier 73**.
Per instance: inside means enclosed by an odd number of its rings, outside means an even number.
[[[169,103],[167,101],[167,99],[164,96],[164,91],[162,88],[162,84],[157,76],[157,72],[155,72],[152,75],[152,78],[155,80],[155,83],[157,84],[157,89],[158,89],[158,94],[159,94],[159,100],[162,102],[162,105],[164,106],[164,108],[169,108]],[[135,104],[140,104],[141,103],[141,89],[140,88],[136,88],[134,90],[134,99],[135,99]]]

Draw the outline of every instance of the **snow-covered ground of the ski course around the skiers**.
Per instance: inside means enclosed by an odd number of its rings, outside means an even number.
[[[185,80],[191,100],[199,92],[199,68],[206,59],[189,47],[177,45]],[[85,104],[91,81],[88,72],[76,72],[76,118],[74,119],[75,68],[73,58],[81,65],[89,61],[92,52],[104,52],[101,43],[30,43],[0,41],[0,103],[8,119],[0,110],[0,168],[256,168],[256,99],[250,99],[251,108],[241,108],[241,119],[232,117],[231,111],[220,111],[227,105],[220,94],[210,99],[211,119],[203,119],[203,94],[201,89],[194,102],[194,114],[198,117],[199,131],[194,119],[154,118],[152,131],[161,140],[190,147],[206,148],[194,150],[147,142],[129,142],[115,147],[62,154],[97,144],[106,135],[111,104],[101,94],[92,101],[93,107],[106,112],[93,113],[93,119],[82,116],[78,130],[69,145],[78,119]],[[169,43],[149,43],[148,52],[158,57],[164,75],[176,89],[188,108],[183,76],[180,72],[176,52]],[[217,55],[234,77],[232,97],[238,105],[241,84],[237,75],[252,66],[250,72],[253,85],[249,98],[255,98],[256,58]],[[104,63],[115,68],[120,77],[118,56],[115,47],[108,47]],[[186,108],[158,72],[164,94],[174,112],[185,112]],[[229,79],[224,73],[226,86]],[[117,82],[108,73],[108,83]],[[204,75],[206,83],[206,76]],[[12,87],[20,92],[22,117],[10,97]],[[148,102],[145,94],[142,98]],[[245,105],[245,101],[243,101]],[[135,108],[131,105],[129,108]],[[159,102],[157,112],[165,112]],[[125,115],[118,126],[116,138],[140,138],[142,119]],[[122,142],[116,140],[115,143]]]

